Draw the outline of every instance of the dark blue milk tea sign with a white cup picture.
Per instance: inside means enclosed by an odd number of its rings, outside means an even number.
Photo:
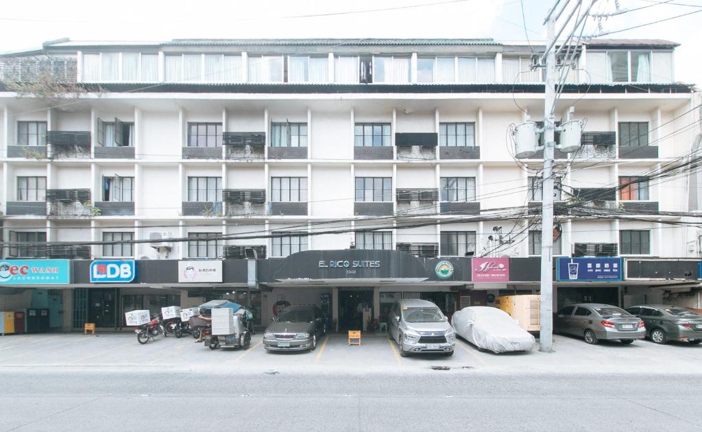
[[[622,280],[623,260],[612,258],[558,258],[559,282]]]

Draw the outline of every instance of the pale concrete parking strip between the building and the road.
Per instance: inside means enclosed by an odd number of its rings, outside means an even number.
[[[168,367],[192,372],[412,373],[449,367],[472,372],[656,372],[698,371],[702,346],[684,343],[656,345],[635,341],[625,346],[602,342],[590,346],[569,336],[554,338],[554,353],[535,348],[528,353],[482,353],[462,339],[451,357],[413,355],[401,358],[388,336],[364,334],[361,346],[348,346],[345,335],[330,334],[312,352],[268,353],[262,334],[253,336],[248,350],[211,351],[191,336],[158,336],[140,345],[131,332],[32,334],[0,336],[0,367]]]

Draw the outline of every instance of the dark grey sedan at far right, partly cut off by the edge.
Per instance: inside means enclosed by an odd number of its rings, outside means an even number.
[[[626,310],[646,323],[647,336],[654,343],[682,341],[696,345],[702,342],[702,315],[689,309],[649,304]]]

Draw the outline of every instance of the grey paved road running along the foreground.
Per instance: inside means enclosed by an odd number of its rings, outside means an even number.
[[[15,367],[0,382],[0,431],[702,430],[699,380],[675,374]]]

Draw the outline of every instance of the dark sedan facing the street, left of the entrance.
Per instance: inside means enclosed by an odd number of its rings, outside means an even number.
[[[312,351],[326,334],[324,313],[317,306],[288,306],[273,318],[263,334],[268,351]]]

